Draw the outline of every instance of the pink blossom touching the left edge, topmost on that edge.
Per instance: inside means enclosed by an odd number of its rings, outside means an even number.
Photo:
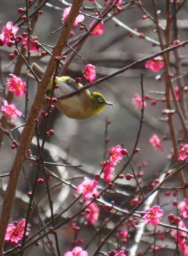
[[[13,26],[12,22],[6,23],[6,26],[2,27],[2,33],[0,34],[1,43],[6,45],[14,43],[14,37],[18,30],[19,27]]]

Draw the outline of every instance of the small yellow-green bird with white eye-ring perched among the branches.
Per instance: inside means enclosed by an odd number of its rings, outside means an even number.
[[[44,75],[44,70],[42,70],[36,63],[32,64],[32,70],[38,76],[39,79]],[[27,72],[28,75],[33,77],[30,71]],[[74,92],[76,89],[81,88],[83,85],[76,82],[70,77],[56,77],[55,79],[59,88],[54,89],[54,97],[59,98],[62,95]],[[47,95],[50,95],[52,91],[53,79],[51,79],[48,88]],[[73,119],[86,119],[90,116],[96,115],[104,109],[106,105],[113,106],[112,103],[107,102],[104,96],[100,93],[93,92],[90,93],[88,89],[71,96],[70,98],[62,99],[54,103],[55,107],[60,110],[61,113]]]

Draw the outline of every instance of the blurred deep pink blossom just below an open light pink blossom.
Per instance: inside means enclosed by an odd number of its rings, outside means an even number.
[[[86,201],[85,205],[88,205],[90,201]],[[89,225],[95,224],[99,217],[99,209],[96,203],[91,203],[86,209],[85,218]]]

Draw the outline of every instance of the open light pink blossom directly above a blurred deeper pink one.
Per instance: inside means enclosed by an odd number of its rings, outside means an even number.
[[[97,181],[89,181],[88,179],[86,181],[83,181],[81,184],[77,186],[77,192],[83,193],[84,199],[90,199],[93,195],[97,196],[98,192],[96,189],[98,182]]]

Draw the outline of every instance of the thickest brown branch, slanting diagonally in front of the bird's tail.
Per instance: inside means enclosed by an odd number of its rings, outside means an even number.
[[[19,142],[18,151],[15,157],[15,160],[12,165],[12,169],[10,171],[10,178],[8,182],[8,186],[5,191],[4,202],[2,206],[2,212],[0,217],[0,256],[4,255],[3,246],[4,246],[4,238],[6,233],[6,228],[9,224],[9,219],[11,216],[13,200],[15,198],[17,183],[19,179],[19,174],[21,170],[21,166],[25,161],[26,153],[28,148],[30,147],[30,143],[33,136],[34,130],[34,120],[37,118],[39,111],[43,105],[46,89],[49,84],[50,79],[56,68],[56,56],[61,56],[64,46],[67,44],[67,39],[71,28],[73,26],[74,20],[79,13],[79,9],[81,8],[83,0],[74,0],[73,6],[67,17],[66,23],[63,26],[60,37],[54,46],[52,57],[49,60],[47,70],[45,72],[44,78],[42,78],[41,82],[39,82],[37,94],[35,96],[33,105],[31,107],[31,112],[28,115],[28,120],[25,124],[23,132],[21,133],[21,139]]]

